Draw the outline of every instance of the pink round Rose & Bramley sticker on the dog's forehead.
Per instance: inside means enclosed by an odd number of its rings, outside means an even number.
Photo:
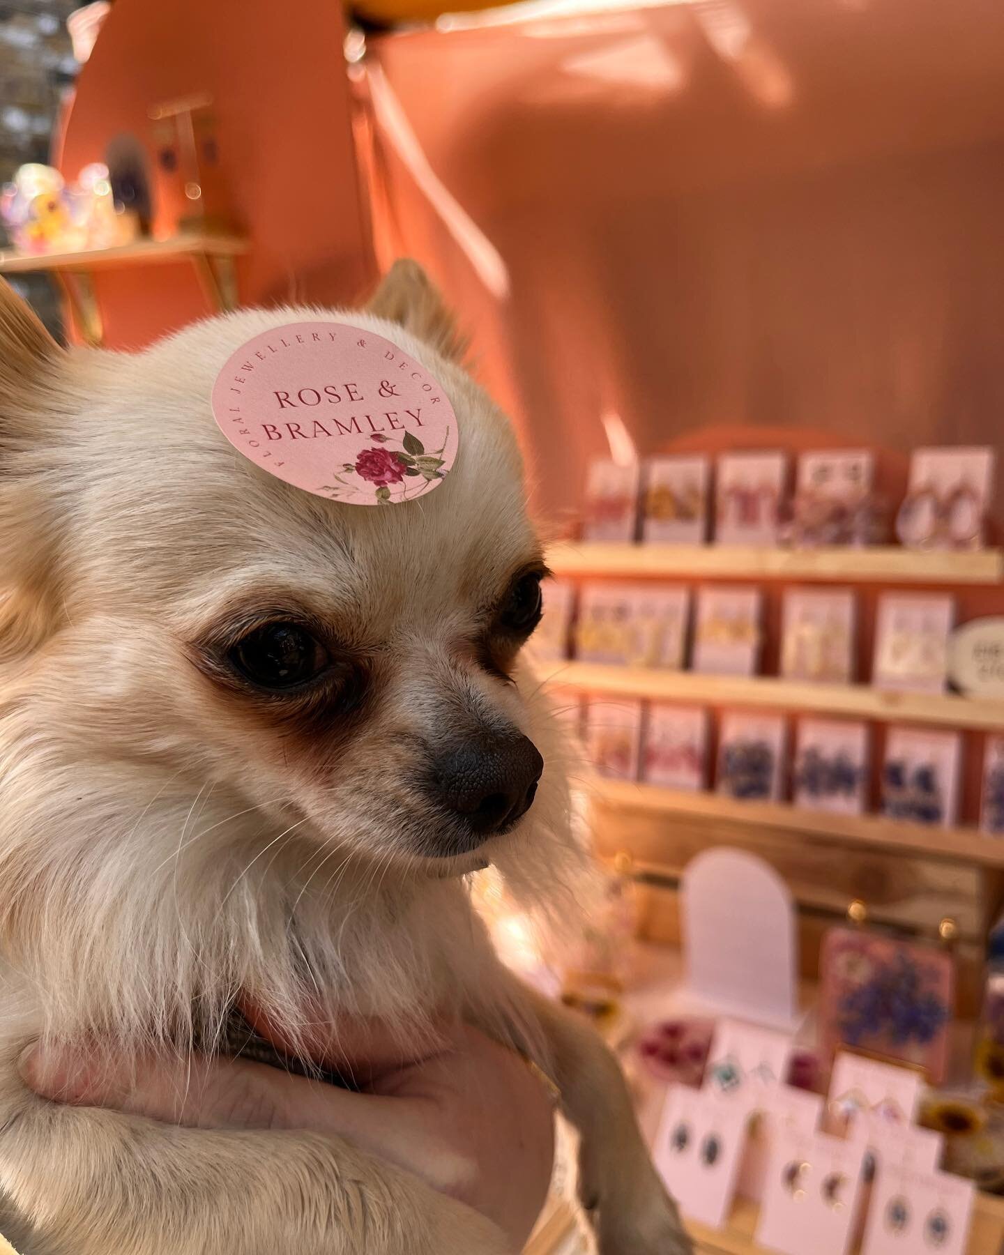
[[[255,466],[353,506],[422,497],[457,457],[457,415],[437,380],[350,323],[256,335],[217,375],[212,412]]]

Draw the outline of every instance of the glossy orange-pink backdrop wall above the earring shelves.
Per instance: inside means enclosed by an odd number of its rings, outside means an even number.
[[[641,453],[999,438],[1004,6],[718,0],[369,53],[379,250],[462,311],[546,512],[604,415]]]

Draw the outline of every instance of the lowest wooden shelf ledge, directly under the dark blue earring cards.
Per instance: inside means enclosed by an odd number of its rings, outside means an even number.
[[[793,833],[809,841],[827,841],[871,850],[925,855],[949,862],[1004,867],[1004,841],[974,828],[939,828],[899,823],[875,814],[828,814],[783,802],[739,802],[718,793],[688,793],[634,781],[592,777],[587,796],[600,803],[639,809],[676,820],[717,820],[773,832]]]

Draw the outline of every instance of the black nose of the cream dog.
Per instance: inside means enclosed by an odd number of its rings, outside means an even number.
[[[543,759],[526,737],[476,737],[433,764],[433,791],[472,832],[487,837],[526,814],[542,771]]]

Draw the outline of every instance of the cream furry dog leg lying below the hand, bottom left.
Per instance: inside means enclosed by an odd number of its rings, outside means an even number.
[[[338,1138],[0,1103],[0,1232],[21,1255],[513,1255],[501,1231]]]

